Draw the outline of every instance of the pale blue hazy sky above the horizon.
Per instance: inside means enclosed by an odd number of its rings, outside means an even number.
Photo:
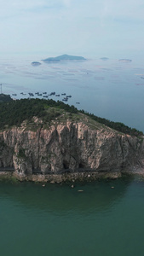
[[[2,54],[143,55],[143,0],[0,2]]]

